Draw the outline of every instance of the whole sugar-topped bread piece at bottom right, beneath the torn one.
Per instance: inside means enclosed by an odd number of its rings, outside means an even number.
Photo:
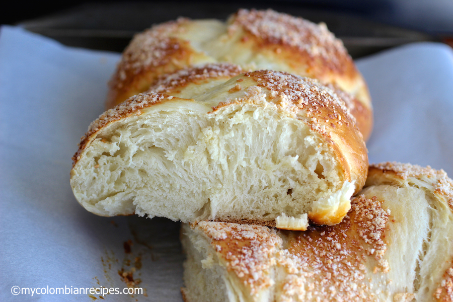
[[[184,224],[186,302],[453,301],[453,182],[429,167],[370,167],[334,226],[305,232]]]

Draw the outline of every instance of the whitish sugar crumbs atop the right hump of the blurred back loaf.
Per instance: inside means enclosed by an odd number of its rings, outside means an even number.
[[[239,10],[233,19],[234,26],[242,27],[267,43],[292,47],[311,57],[323,57],[334,69],[345,69],[352,63],[341,40],[336,39],[325,24],[315,24],[273,10]]]

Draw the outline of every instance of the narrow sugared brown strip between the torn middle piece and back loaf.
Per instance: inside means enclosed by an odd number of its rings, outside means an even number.
[[[184,68],[170,74],[161,75],[148,91],[169,93],[175,88],[182,88],[190,83],[208,79],[225,78],[225,80],[229,80],[242,72],[244,70],[240,66],[230,63],[209,63],[202,66]]]

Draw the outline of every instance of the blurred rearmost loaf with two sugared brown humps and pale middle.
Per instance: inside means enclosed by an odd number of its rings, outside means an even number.
[[[142,93],[159,75],[212,62],[286,71],[351,95],[365,139],[372,128],[369,93],[343,43],[325,24],[272,10],[239,10],[228,22],[180,18],[137,34],[110,81],[107,108]]]

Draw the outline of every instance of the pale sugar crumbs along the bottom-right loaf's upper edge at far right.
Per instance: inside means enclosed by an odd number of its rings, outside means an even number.
[[[392,171],[402,179],[414,177],[423,181],[430,181],[434,186],[434,191],[443,195],[449,207],[453,210],[453,181],[448,178],[445,171],[432,169],[430,166],[421,167],[418,165],[402,164],[397,162],[387,162],[372,164],[370,168],[382,170],[384,173]]]

